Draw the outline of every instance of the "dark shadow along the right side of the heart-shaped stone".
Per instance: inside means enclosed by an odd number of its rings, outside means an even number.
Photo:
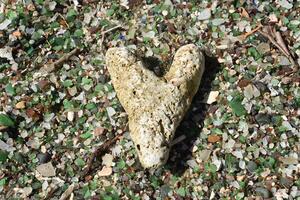
[[[176,130],[174,139],[185,135],[186,138],[174,145],[170,151],[169,160],[165,166],[172,174],[182,175],[188,168],[187,161],[191,159],[191,149],[200,136],[203,122],[210,105],[201,102],[211,91],[212,82],[220,70],[220,64],[214,57],[205,55],[205,71],[198,92],[184,119]]]

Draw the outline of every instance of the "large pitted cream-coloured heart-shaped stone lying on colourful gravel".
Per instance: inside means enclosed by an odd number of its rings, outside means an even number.
[[[193,44],[178,49],[164,77],[143,66],[127,48],[111,48],[106,65],[128,114],[130,136],[145,168],[166,163],[170,143],[204,71],[204,56]]]

